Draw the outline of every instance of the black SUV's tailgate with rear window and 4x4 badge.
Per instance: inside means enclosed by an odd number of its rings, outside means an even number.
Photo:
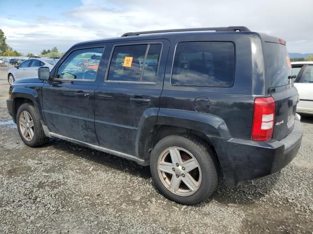
[[[280,140],[293,129],[299,100],[291,75],[291,63],[285,43],[277,38],[263,43],[268,91],[275,100],[273,138]]]

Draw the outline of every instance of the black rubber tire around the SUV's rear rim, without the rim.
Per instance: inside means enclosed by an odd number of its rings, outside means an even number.
[[[188,196],[176,195],[163,185],[158,174],[158,158],[169,147],[180,147],[189,151],[197,159],[202,174],[198,190]],[[213,151],[205,142],[190,135],[173,135],[161,139],[151,152],[150,170],[156,188],[168,199],[183,205],[195,205],[212,195],[219,181],[218,163]]]

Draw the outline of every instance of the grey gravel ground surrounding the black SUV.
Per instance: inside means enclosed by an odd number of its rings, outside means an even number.
[[[159,195],[149,167],[51,139],[22,143],[0,68],[0,233],[313,234],[313,117],[281,172],[217,192],[196,206]]]

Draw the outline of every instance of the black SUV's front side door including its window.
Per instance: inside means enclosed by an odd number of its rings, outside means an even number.
[[[93,106],[103,51],[100,46],[73,50],[52,70],[53,82],[43,86],[45,122],[51,132],[98,144]]]

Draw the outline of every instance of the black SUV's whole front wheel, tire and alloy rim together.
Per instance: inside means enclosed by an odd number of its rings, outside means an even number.
[[[37,147],[45,144],[47,137],[33,105],[29,103],[22,104],[18,110],[16,120],[20,137],[25,145]]]

